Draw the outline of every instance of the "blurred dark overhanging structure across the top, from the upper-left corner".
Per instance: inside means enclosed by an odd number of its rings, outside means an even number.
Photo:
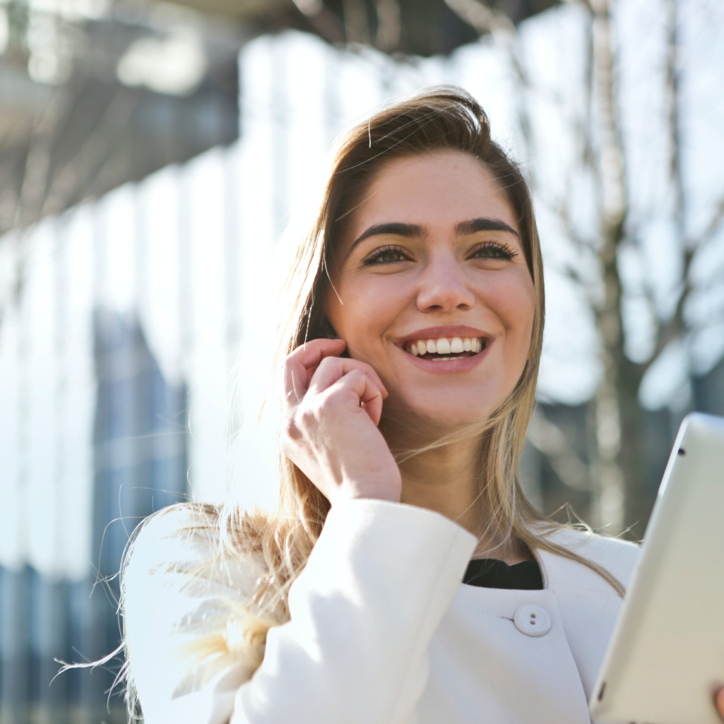
[[[0,233],[231,143],[237,52],[288,28],[418,56],[476,38],[445,0],[1,0]]]

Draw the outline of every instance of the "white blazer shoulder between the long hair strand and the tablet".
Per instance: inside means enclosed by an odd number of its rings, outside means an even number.
[[[636,543],[565,526],[550,531],[544,538],[604,568],[624,587],[630,583],[641,555],[641,547]]]

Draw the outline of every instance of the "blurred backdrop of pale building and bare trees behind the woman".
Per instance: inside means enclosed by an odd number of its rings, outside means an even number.
[[[124,722],[119,658],[51,679],[117,647],[132,530],[274,500],[295,219],[335,136],[424,85],[534,190],[523,485],[640,539],[683,416],[724,415],[723,74],[719,0],[0,0],[0,722]]]

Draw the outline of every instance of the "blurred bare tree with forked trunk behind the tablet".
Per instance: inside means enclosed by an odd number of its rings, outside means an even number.
[[[448,6],[479,33],[492,33],[508,54],[510,67],[518,87],[534,91],[520,53],[521,41],[513,24],[502,14],[481,4],[479,0],[446,0]],[[592,428],[589,446],[591,466],[589,481],[595,500],[594,524],[607,525],[612,531],[628,529],[641,536],[649,517],[652,494],[646,489],[647,471],[644,454],[644,411],[639,403],[639,390],[644,375],[660,354],[674,340],[686,341],[692,329],[686,306],[694,284],[691,262],[696,250],[702,248],[719,230],[724,219],[724,196],[704,232],[691,237],[686,223],[686,192],[682,173],[681,143],[681,63],[678,38],[681,18],[678,0],[662,0],[666,14],[665,98],[668,106],[670,214],[681,253],[681,284],[673,315],[657,312],[654,289],[648,285],[644,294],[654,326],[654,344],[644,360],[633,361],[626,352],[627,331],[624,307],[628,290],[621,278],[622,257],[626,248],[640,248],[636,224],[631,219],[631,193],[627,185],[627,149],[623,142],[622,114],[618,78],[620,49],[615,39],[613,0],[578,0],[586,13],[586,102],[584,117],[573,125],[576,133],[578,159],[582,172],[594,180],[595,214],[598,232],[594,239],[581,235],[572,221],[570,197],[549,199],[578,258],[593,257],[597,268],[596,283],[584,278],[571,264],[565,270],[586,292],[594,314],[599,336],[601,376],[592,400]],[[519,104],[520,127],[531,143],[526,102]],[[545,197],[545,190],[536,185],[536,194]],[[563,438],[539,419],[531,426],[531,442],[548,455],[560,476],[572,487],[581,487],[581,467]],[[571,462],[573,460],[573,463]],[[573,471],[573,472],[571,472]],[[568,480],[567,480],[568,479]]]

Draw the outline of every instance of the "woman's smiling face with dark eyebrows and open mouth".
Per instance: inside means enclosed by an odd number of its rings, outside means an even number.
[[[391,161],[334,254],[325,311],[403,417],[484,420],[528,358],[535,295],[510,203],[468,153]]]

